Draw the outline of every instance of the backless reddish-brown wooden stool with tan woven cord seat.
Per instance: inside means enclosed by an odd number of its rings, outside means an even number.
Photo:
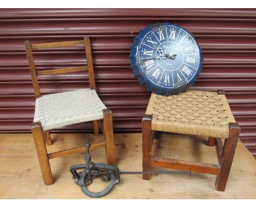
[[[207,136],[208,145],[216,146],[219,164],[197,163],[151,155],[156,132]],[[225,191],[240,127],[230,110],[223,90],[217,93],[188,90],[173,96],[152,93],[142,119],[143,171],[152,167],[190,170],[217,175],[216,189]],[[225,138],[224,144],[220,138]],[[150,174],[143,175],[150,180]]]

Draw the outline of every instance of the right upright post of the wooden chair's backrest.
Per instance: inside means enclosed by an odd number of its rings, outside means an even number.
[[[89,69],[90,88],[95,89],[94,66],[92,65],[91,44],[90,44],[89,37],[84,37],[84,45],[85,45],[87,65],[88,65],[88,69]]]

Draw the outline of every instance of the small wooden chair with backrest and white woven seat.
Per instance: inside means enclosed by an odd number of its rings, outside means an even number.
[[[36,71],[32,50],[37,48],[53,48],[74,45],[85,46],[87,65],[74,68]],[[81,41],[53,42],[46,44],[31,44],[30,41],[27,40],[25,41],[25,46],[33,88],[36,94],[36,108],[34,122],[31,125],[31,129],[44,183],[46,185],[54,183],[49,163],[50,159],[85,151],[85,147],[83,146],[48,154],[45,143],[47,145],[52,144],[49,130],[57,127],[82,123],[85,121],[93,121],[94,134],[98,135],[98,128],[100,127],[104,134],[105,142],[92,144],[90,149],[105,146],[107,163],[114,165],[115,158],[112,112],[104,106],[95,90],[94,68],[92,65],[89,37],[84,37],[84,40]],[[49,95],[40,94],[37,76],[56,75],[76,71],[89,71],[90,89],[80,89]]]

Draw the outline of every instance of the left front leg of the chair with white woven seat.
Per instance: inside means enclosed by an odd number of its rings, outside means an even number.
[[[47,150],[44,143],[44,134],[40,122],[32,123],[31,130],[34,138],[34,144],[36,145],[37,156],[43,175],[44,183],[51,185],[54,183],[53,175],[51,174],[50,163],[47,156]]]

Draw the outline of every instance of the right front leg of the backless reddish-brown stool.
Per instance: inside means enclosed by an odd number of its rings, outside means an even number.
[[[235,154],[236,144],[239,138],[240,127],[237,123],[229,123],[229,136],[226,145],[223,146],[222,163],[220,164],[219,174],[216,178],[215,187],[217,191],[225,191],[228,181],[230,168]]]

